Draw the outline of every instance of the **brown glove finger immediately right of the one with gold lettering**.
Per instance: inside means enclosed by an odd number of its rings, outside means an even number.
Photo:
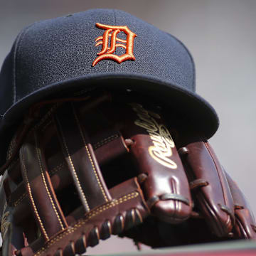
[[[218,237],[232,235],[234,203],[223,169],[208,142],[193,142],[179,150],[198,208]]]

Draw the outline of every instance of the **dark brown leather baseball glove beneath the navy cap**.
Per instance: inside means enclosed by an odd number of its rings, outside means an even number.
[[[142,99],[94,91],[31,107],[1,168],[4,256],[81,254],[112,234],[151,247],[256,237],[206,139]]]

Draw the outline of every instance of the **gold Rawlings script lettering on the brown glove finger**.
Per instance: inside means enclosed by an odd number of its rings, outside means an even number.
[[[137,103],[130,104],[132,109],[137,112],[137,119],[134,124],[146,129],[154,146],[149,146],[150,156],[170,169],[176,169],[177,164],[170,159],[172,156],[172,148],[175,147],[174,140],[167,127],[164,124],[159,124],[156,119],[160,119],[159,114],[149,112]]]

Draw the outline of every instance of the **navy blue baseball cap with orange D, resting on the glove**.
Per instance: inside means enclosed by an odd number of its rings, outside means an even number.
[[[170,118],[178,110],[206,138],[218,129],[215,110],[195,92],[193,59],[181,41],[124,11],[94,9],[18,34],[0,73],[0,164],[28,107],[92,87],[156,97]]]

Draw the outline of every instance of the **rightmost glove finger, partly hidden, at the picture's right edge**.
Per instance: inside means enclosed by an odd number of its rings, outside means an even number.
[[[237,183],[225,172],[235,203],[235,236],[256,239],[255,217]]]

